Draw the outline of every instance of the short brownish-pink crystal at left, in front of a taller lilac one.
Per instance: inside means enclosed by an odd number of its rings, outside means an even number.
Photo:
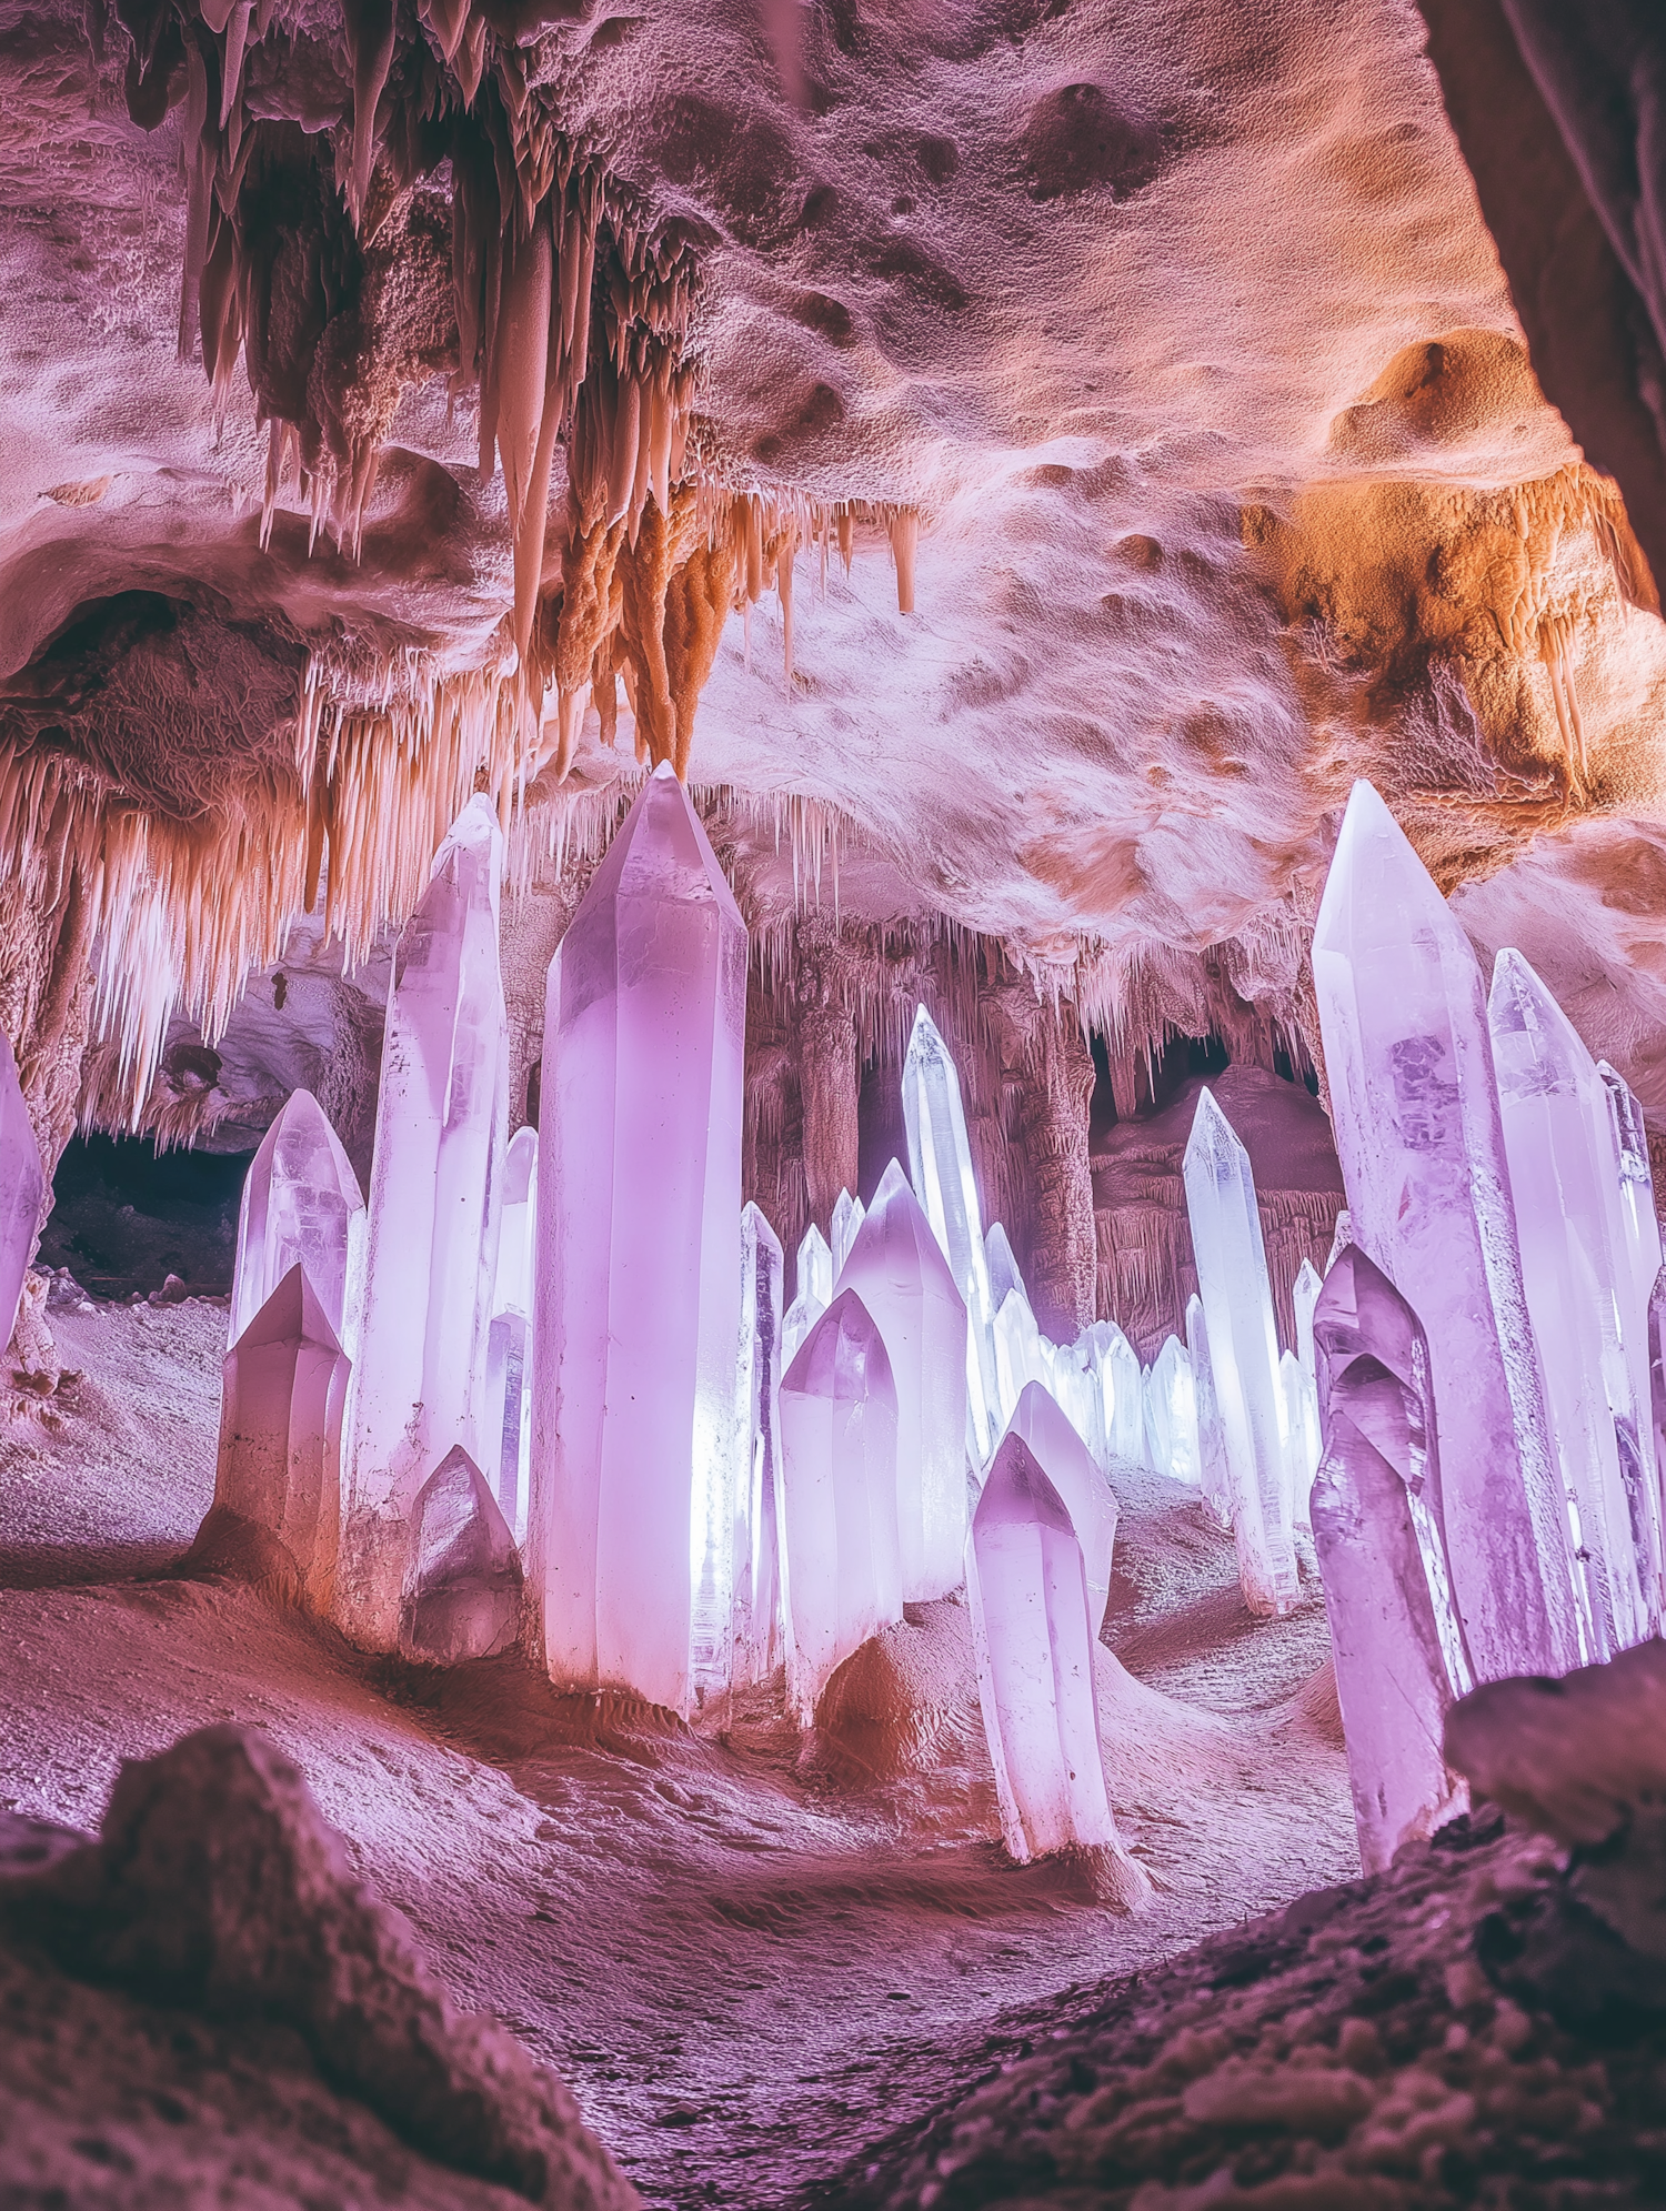
[[[215,1510],[274,1537],[327,1612],[341,1541],[341,1424],[352,1366],[296,1260],[226,1353]]]

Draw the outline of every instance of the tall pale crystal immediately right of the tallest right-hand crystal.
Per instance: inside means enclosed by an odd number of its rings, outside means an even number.
[[[1631,1256],[1620,1243],[1608,1094],[1573,1024],[1518,951],[1500,951],[1487,1024],[1516,1196],[1527,1313],[1571,1506],[1589,1658],[1648,1634],[1657,1506],[1644,1495],[1620,1342]]]

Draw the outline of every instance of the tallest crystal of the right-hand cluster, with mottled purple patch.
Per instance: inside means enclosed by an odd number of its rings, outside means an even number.
[[[1566,1674],[1580,1663],[1566,1512],[1480,968],[1363,780],[1319,904],[1312,968],[1350,1236],[1429,1333],[1447,1539],[1476,1672]]]

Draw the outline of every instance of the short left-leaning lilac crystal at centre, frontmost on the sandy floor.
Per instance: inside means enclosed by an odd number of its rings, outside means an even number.
[[[967,1596],[1007,1851],[1024,1864],[1049,1851],[1117,1848],[1082,1543],[1035,1453],[1013,1433],[971,1515]]]

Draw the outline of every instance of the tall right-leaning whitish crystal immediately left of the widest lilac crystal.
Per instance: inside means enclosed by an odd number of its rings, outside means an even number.
[[[509,1106],[500,880],[482,794],[394,946],[336,1583],[343,1627],[374,1649],[398,1634],[418,1488],[456,1444],[480,1457]]]

